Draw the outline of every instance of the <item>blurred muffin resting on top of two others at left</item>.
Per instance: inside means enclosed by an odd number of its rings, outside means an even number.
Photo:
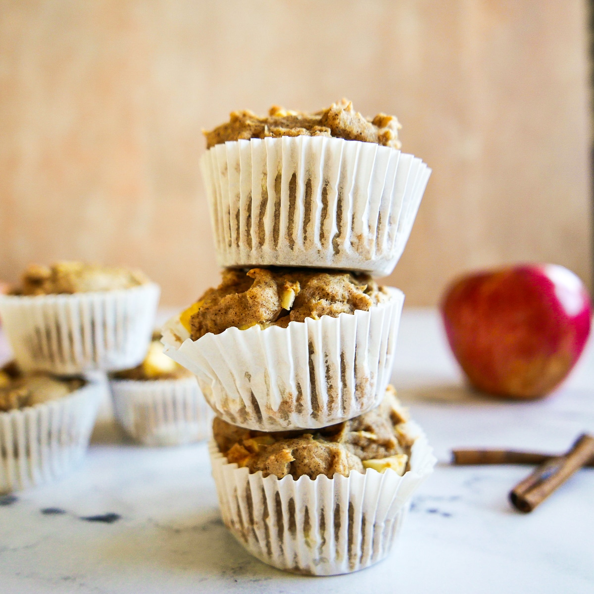
[[[77,375],[138,365],[158,301],[143,273],[61,262],[27,268],[0,317],[21,368]]]

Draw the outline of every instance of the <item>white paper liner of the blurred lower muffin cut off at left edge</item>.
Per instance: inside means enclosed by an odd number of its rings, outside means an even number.
[[[0,493],[27,489],[64,475],[83,459],[105,378],[68,396],[0,412]]]

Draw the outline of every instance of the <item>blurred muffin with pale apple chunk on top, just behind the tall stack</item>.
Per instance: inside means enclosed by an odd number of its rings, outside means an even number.
[[[163,353],[153,335],[144,361],[110,374],[115,417],[146,445],[181,445],[206,439],[213,417],[195,375]]]

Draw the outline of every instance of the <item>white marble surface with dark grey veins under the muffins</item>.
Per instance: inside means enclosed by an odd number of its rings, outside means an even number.
[[[594,470],[532,514],[507,503],[528,467],[451,467],[457,446],[561,451],[594,432],[594,345],[537,403],[467,391],[434,311],[405,312],[394,383],[441,462],[415,497],[399,549],[349,576],[285,574],[222,525],[206,447],[144,448],[104,415],[89,455],[55,484],[0,505],[0,592],[326,594],[592,593]],[[64,513],[44,514],[56,508]],[[83,519],[118,514],[112,523]]]

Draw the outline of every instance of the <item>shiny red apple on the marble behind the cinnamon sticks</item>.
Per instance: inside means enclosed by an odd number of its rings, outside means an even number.
[[[579,359],[592,321],[582,281],[563,266],[469,274],[441,303],[448,342],[470,383],[509,398],[545,396]]]

